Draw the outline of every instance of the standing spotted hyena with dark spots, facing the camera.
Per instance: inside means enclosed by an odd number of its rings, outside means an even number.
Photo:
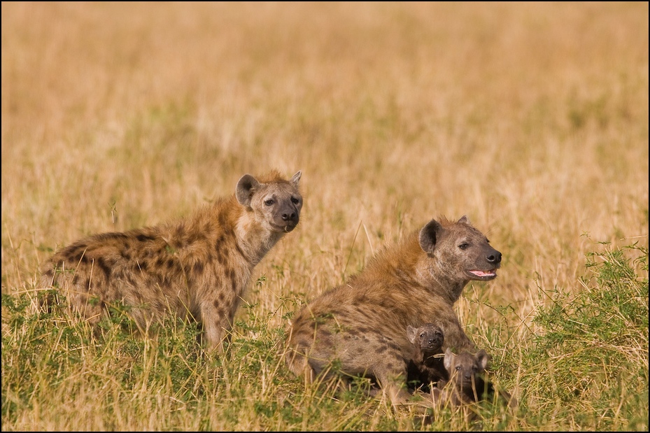
[[[298,224],[301,175],[246,174],[186,220],[76,241],[45,263],[41,287],[62,291],[92,324],[119,302],[141,329],[166,313],[194,318],[221,350],[253,268]]]

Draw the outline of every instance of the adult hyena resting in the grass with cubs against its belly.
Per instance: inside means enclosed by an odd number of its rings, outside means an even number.
[[[501,253],[466,216],[431,220],[295,315],[288,367],[307,382],[318,374],[374,377],[394,405],[404,404],[411,397],[407,363],[414,357],[404,329],[434,322],[444,346],[474,350],[453,304],[469,281],[495,278],[500,263]]]

